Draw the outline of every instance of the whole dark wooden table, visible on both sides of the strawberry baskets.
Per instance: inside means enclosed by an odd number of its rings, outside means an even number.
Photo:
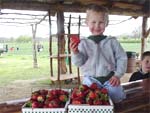
[[[150,113],[150,79],[122,84],[127,98],[114,104],[114,113]],[[0,113],[21,113],[27,99],[0,103]]]

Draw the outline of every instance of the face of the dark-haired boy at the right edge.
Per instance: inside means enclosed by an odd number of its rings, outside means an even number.
[[[141,61],[141,65],[144,73],[150,72],[150,56],[145,56],[145,58]]]

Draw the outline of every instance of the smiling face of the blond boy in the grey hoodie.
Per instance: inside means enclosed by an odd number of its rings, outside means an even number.
[[[90,11],[86,24],[92,35],[103,35],[106,27],[104,14],[101,12]]]

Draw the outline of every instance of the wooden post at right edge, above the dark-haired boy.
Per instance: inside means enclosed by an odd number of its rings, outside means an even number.
[[[144,16],[142,21],[141,54],[145,51],[146,30],[147,30],[147,17]]]

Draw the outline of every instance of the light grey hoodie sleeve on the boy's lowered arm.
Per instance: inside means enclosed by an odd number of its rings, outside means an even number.
[[[127,54],[120,45],[120,43],[115,39],[113,42],[113,49],[115,55],[115,76],[121,78],[127,69]]]

